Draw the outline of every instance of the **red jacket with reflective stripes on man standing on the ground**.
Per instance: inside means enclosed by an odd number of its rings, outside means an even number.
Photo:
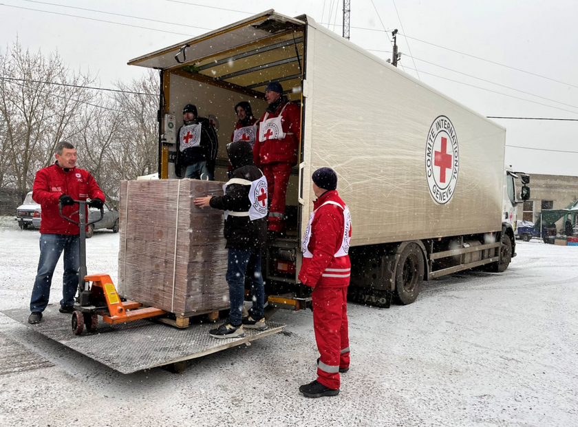
[[[312,258],[303,256],[299,280],[310,287],[347,287],[350,282],[349,255],[334,256],[343,244],[345,220],[343,210],[336,205],[323,205],[332,201],[345,208],[336,190],[327,191],[313,202],[315,215],[311,223],[311,237],[307,249]],[[306,231],[307,233],[307,231]],[[348,231],[351,237],[351,227]],[[305,248],[303,248],[303,251]]]

